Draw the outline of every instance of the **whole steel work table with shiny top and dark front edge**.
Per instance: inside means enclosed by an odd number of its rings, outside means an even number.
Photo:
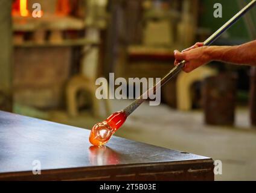
[[[208,157],[115,136],[93,147],[88,136],[82,128],[0,111],[0,180],[214,180]]]

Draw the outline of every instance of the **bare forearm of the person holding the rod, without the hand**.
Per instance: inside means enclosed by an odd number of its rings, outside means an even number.
[[[256,40],[238,46],[206,46],[210,60],[256,66]]]

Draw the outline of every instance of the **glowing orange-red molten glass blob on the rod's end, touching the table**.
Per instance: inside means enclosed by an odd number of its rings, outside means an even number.
[[[126,118],[126,113],[120,111],[113,113],[105,121],[94,125],[89,138],[91,144],[97,146],[106,144],[115,131],[124,124]]]

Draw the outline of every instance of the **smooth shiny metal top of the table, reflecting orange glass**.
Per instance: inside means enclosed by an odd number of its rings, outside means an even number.
[[[0,111],[0,174],[42,170],[164,162],[213,162],[190,153],[112,137],[106,147],[88,141],[90,131]]]

